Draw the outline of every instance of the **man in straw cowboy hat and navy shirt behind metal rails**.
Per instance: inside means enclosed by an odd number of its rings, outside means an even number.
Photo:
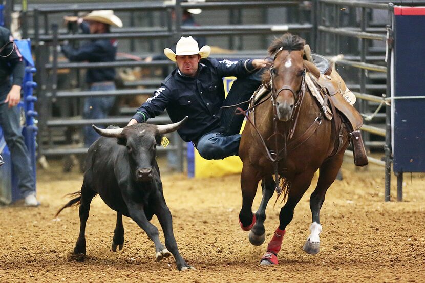
[[[82,19],[77,17],[65,17],[68,22],[77,21],[83,33],[104,34],[110,33],[110,27],[121,28],[122,21],[114,15],[112,10],[93,11]],[[72,45],[62,45],[61,51],[65,57],[73,62],[112,62],[117,54],[117,41],[115,39],[94,39],[74,48]],[[115,69],[98,68],[88,69],[86,82],[90,85],[91,91],[112,91],[115,90]],[[115,97],[88,97],[84,101],[84,119],[106,118],[114,105]],[[90,146],[99,135],[92,127],[84,127],[84,144]]]

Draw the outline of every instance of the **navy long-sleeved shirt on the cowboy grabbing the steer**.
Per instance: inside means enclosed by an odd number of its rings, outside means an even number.
[[[154,96],[138,108],[133,119],[145,122],[165,109],[173,123],[189,116],[177,132],[184,141],[195,141],[220,125],[220,107],[225,98],[223,77],[246,77],[253,71],[252,60],[244,59],[201,59],[196,77],[185,76],[176,68]]]

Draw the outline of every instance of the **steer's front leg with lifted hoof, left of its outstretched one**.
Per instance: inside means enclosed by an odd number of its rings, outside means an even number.
[[[144,213],[143,205],[134,203],[133,201],[125,200],[129,208],[129,213],[134,222],[142,228],[147,236],[154,242],[156,251],[156,260],[161,260],[164,256],[169,256],[169,251],[165,248],[164,244],[159,240],[158,228],[147,220]]]

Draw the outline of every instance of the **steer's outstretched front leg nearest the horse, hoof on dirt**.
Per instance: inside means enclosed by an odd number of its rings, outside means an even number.
[[[164,232],[165,246],[173,254],[174,259],[176,260],[177,269],[181,271],[187,269],[194,269],[189,264],[187,264],[183,257],[180,255],[176,243],[176,238],[174,237],[173,232],[173,218],[171,216],[171,212],[169,211],[167,204],[165,203],[165,199],[162,193],[158,192],[157,199],[158,204],[155,205],[155,214],[157,215],[159,223],[162,227],[162,231]]]

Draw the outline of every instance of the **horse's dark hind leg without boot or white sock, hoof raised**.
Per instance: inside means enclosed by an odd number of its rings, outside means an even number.
[[[257,212],[255,213],[257,221],[248,235],[249,242],[251,242],[251,244],[255,246],[260,246],[264,243],[264,240],[266,239],[266,229],[264,228],[264,221],[266,220],[267,204],[274,193],[274,181],[272,176],[265,177],[261,182],[261,187],[263,190],[263,198],[261,199],[261,203],[258,207]]]

